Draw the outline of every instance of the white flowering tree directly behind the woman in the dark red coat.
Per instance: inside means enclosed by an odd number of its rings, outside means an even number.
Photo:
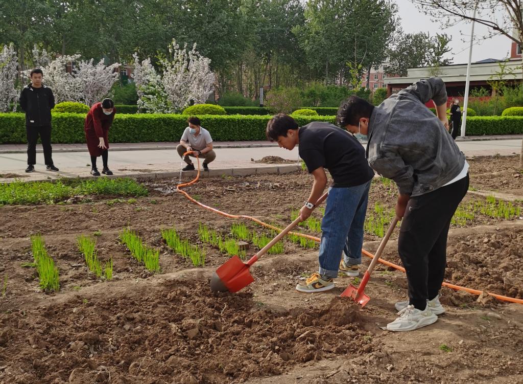
[[[96,65],[93,61],[93,59],[82,60],[73,69],[75,81],[82,94],[82,102],[89,106],[109,94],[112,84],[118,81],[119,73],[115,70],[121,65],[114,63],[106,67],[104,60],[100,60]]]

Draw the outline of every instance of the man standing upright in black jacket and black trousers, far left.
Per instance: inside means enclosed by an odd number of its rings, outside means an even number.
[[[31,71],[31,84],[20,93],[20,106],[26,113],[27,133],[27,168],[33,172],[36,164],[36,142],[38,135],[42,140],[43,157],[48,171],[58,171],[51,157],[51,109],[54,107],[54,96],[50,88],[42,84],[41,69]]]

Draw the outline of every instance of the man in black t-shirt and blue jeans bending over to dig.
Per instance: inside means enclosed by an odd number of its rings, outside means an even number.
[[[302,221],[311,215],[314,203],[327,185],[325,168],[334,179],[322,220],[319,272],[299,283],[296,289],[308,293],[333,289],[338,271],[358,276],[363,224],[374,175],[365,158],[365,149],[356,138],[335,125],[312,122],[298,127],[292,117],[282,113],[269,120],[266,135],[288,150],[298,145],[300,157],[314,177],[309,199],[300,210]]]

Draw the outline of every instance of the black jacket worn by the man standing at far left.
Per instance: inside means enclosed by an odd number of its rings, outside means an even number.
[[[20,106],[26,113],[26,126],[51,125],[54,95],[47,86],[43,84],[41,88],[33,88],[32,84],[25,86],[20,93]]]

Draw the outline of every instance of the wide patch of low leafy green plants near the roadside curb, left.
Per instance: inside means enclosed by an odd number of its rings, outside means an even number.
[[[0,204],[53,204],[76,195],[145,196],[147,193],[145,186],[129,178],[14,181],[0,184]]]

